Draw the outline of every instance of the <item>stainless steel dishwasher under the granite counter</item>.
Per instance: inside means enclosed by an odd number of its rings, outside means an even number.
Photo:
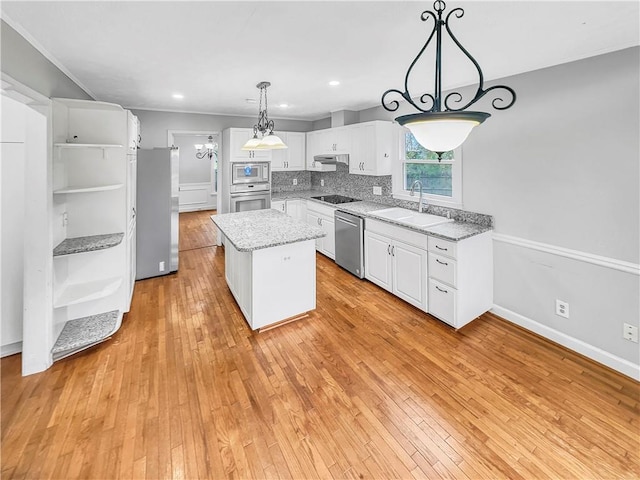
[[[364,278],[364,220],[336,210],[336,263]]]

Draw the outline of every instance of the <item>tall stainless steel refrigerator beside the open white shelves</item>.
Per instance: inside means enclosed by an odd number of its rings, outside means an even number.
[[[178,270],[178,148],[138,150],[136,280]]]

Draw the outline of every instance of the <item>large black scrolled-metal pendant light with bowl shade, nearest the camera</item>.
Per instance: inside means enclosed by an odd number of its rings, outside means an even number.
[[[400,103],[398,100],[392,100],[390,102],[386,101],[386,97],[389,94],[397,93],[402,96],[409,104],[411,104],[418,112],[411,115],[402,115],[396,118],[396,121],[400,125],[404,125],[407,127],[415,139],[426,149],[431,150],[432,152],[436,152],[438,154],[438,158],[441,159],[442,154],[444,152],[448,152],[449,150],[453,150],[456,147],[462,145],[462,143],[467,139],[467,136],[476,125],[481,124],[487,118],[491,116],[489,113],[485,112],[474,112],[467,111],[466,108],[470,107],[482,97],[484,97],[487,93],[492,90],[502,89],[506,90],[510,95],[510,100],[504,100],[500,97],[495,98],[491,104],[493,108],[496,110],[506,110],[511,107],[516,101],[516,93],[512,88],[504,86],[504,85],[496,85],[486,90],[483,88],[484,76],[482,74],[482,70],[480,69],[480,65],[478,62],[469,54],[469,52],[460,44],[458,39],[455,37],[451,29],[449,28],[449,19],[452,15],[455,15],[456,18],[461,18],[464,15],[464,10],[462,8],[454,8],[451,10],[446,18],[442,19],[442,12],[444,12],[446,8],[446,4],[438,0],[434,2],[433,8],[436,13],[425,10],[422,12],[421,19],[423,22],[426,22],[430,18],[433,18],[435,24],[431,33],[429,34],[429,38],[426,43],[416,56],[416,58],[411,62],[409,69],[404,77],[404,92],[401,92],[397,89],[390,89],[384,92],[382,95],[382,106],[389,112],[395,112],[400,107]],[[436,15],[437,14],[437,15]],[[458,92],[449,93],[444,100],[442,99],[442,28],[445,28],[451,39],[458,46],[458,48],[466,55],[466,57],[473,63],[476,70],[478,71],[479,84],[478,89],[476,90],[475,96],[469,100],[467,103],[463,102],[463,97]],[[435,71],[435,91],[433,95],[430,93],[425,93],[421,97],[419,97],[418,105],[409,92],[408,82],[411,71],[418,61],[418,59],[422,56],[424,51],[427,49],[427,46],[433,39],[433,36],[436,37],[436,71]],[[464,103],[462,106],[456,108],[456,104]],[[426,108],[430,107],[430,108]],[[444,108],[444,110],[443,110]]]

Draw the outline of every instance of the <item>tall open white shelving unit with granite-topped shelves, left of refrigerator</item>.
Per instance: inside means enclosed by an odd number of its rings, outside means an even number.
[[[109,338],[129,310],[138,128],[135,116],[110,103],[54,99],[52,112],[57,360]]]

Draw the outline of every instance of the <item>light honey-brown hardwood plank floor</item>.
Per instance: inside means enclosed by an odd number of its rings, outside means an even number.
[[[639,384],[492,315],[455,332],[318,255],[317,310],[252,333],[210,214],[112,340],[2,360],[2,478],[640,476]]]

